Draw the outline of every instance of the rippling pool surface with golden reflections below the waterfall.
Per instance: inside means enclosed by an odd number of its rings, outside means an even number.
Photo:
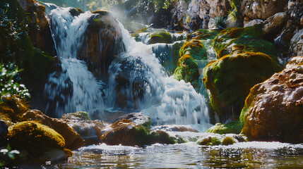
[[[246,142],[232,146],[154,144],[86,146],[69,161],[44,168],[303,168],[303,144]]]

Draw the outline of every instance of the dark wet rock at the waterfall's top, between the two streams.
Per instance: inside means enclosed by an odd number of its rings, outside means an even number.
[[[88,63],[93,72],[107,75],[109,65],[124,51],[121,28],[117,20],[107,11],[95,11],[88,19],[78,57]]]

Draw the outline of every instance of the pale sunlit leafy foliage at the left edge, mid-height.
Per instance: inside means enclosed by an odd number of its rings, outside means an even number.
[[[19,72],[18,66],[16,67],[13,63],[9,65],[0,64],[0,98],[9,97],[11,94],[16,94],[21,98],[30,97],[25,85],[18,83],[20,81]]]

